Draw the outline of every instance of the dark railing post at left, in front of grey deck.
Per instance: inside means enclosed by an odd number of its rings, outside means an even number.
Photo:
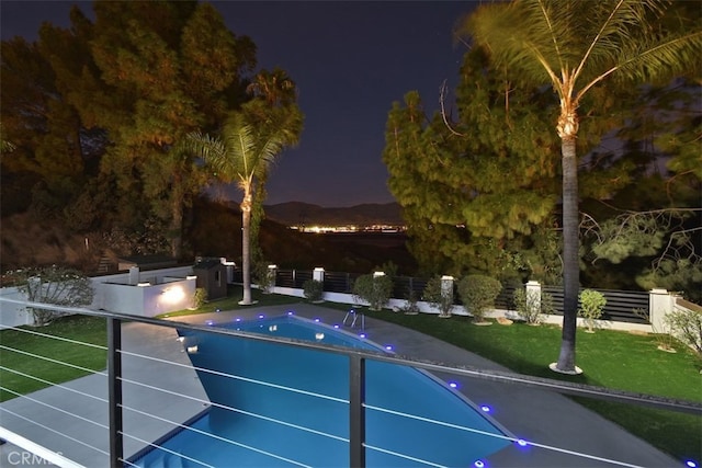
[[[124,467],[122,421],[122,322],[107,318],[107,404],[110,407],[110,466]]]

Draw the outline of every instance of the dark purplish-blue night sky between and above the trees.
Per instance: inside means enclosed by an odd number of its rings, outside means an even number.
[[[0,1],[2,39],[36,38],[42,22],[68,26],[70,5],[90,2]],[[453,26],[471,1],[215,1],[226,24],[258,47],[259,68],[280,66],[299,89],[301,144],[281,155],[267,204],[321,206],[393,202],[382,161],[393,101],[418,90],[428,111],[439,88],[455,85],[465,46]],[[235,198],[239,198],[234,194]]]

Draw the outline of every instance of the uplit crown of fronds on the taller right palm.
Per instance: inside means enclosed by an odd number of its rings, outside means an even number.
[[[700,69],[700,23],[661,27],[666,0],[536,0],[479,7],[461,24],[514,75],[547,78],[558,92],[575,78],[582,95],[613,75],[648,82]]]

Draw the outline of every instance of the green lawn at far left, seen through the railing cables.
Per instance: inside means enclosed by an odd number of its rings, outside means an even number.
[[[69,316],[56,319],[46,327],[22,327],[21,329],[0,331],[0,401],[83,377],[107,365],[106,320],[99,317]],[[41,334],[39,334],[41,333]],[[60,336],[101,346],[93,347],[49,336]],[[19,353],[24,351],[50,359],[69,363],[88,370],[61,365]],[[5,370],[12,369],[11,370]],[[16,372],[42,378],[48,383],[24,377]],[[4,390],[8,389],[8,390]]]

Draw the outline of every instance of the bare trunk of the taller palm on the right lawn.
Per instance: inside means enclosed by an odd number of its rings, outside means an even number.
[[[578,160],[573,134],[562,136],[563,164],[563,335],[556,369],[575,373],[575,338],[580,289]]]

